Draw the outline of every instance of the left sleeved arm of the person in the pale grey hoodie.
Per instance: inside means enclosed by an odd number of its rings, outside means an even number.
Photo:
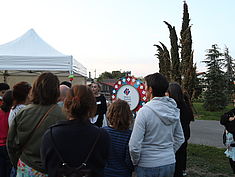
[[[129,151],[133,165],[137,165],[140,159],[141,144],[145,134],[145,117],[140,110],[135,119],[134,128],[129,141]]]

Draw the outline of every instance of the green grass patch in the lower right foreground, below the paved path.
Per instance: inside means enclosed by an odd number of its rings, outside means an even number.
[[[225,149],[188,145],[187,173],[188,177],[232,177]]]

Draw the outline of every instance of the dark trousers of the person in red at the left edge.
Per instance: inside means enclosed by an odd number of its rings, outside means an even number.
[[[9,177],[11,173],[11,162],[6,146],[0,146],[0,177]]]

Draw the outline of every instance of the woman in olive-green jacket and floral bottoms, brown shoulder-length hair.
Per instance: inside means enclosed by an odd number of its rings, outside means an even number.
[[[42,136],[48,127],[65,119],[56,104],[59,79],[52,73],[42,73],[33,83],[32,104],[21,109],[10,126],[7,148],[17,176],[47,176],[40,156]]]

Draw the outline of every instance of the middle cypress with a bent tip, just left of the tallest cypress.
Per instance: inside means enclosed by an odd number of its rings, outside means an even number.
[[[175,31],[175,27],[171,26],[169,23],[164,21],[167,25],[170,32],[170,41],[171,41],[171,64],[172,64],[172,72],[171,78],[173,81],[181,84],[181,72],[180,72],[180,59],[179,59],[179,46],[178,46],[178,37]]]

